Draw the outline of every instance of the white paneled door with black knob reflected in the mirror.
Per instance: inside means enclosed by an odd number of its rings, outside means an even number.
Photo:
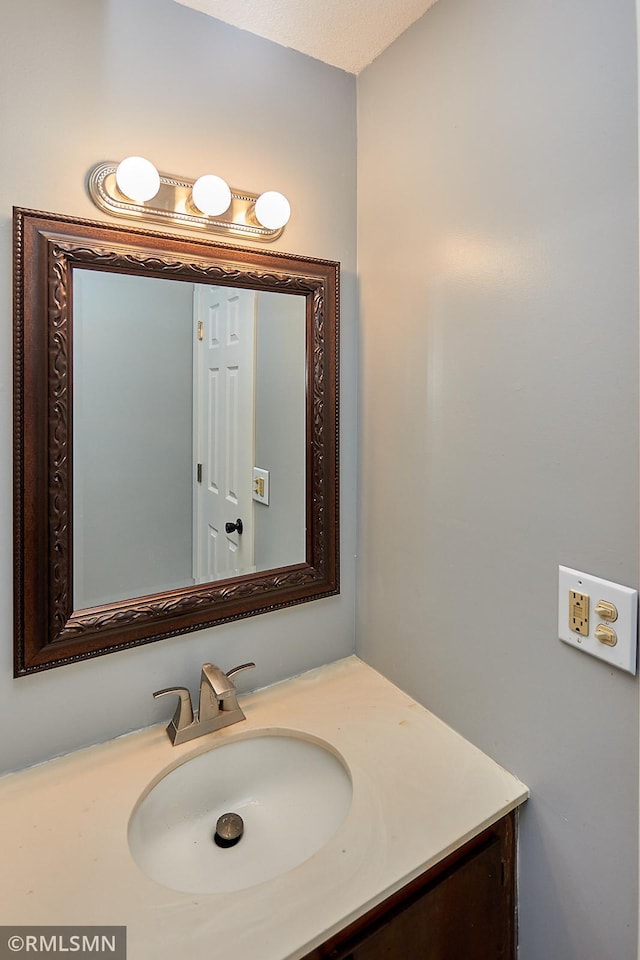
[[[196,583],[254,570],[255,314],[252,290],[194,286]],[[227,532],[238,519],[242,533]]]

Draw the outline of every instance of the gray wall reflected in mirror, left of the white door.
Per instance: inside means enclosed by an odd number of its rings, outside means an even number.
[[[73,604],[193,584],[193,284],[73,276]]]

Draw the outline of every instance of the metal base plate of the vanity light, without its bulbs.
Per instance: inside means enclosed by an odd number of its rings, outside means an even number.
[[[194,181],[172,174],[160,174],[160,189],[152,200],[136,202],[122,194],[116,184],[117,163],[106,161],[95,166],[88,180],[91,199],[100,210],[116,217],[138,220],[157,220],[177,226],[270,242],[276,240],[283,227],[272,230],[257,223],[251,213],[258,195],[231,189],[231,206],[216,217],[197,213],[191,204]]]

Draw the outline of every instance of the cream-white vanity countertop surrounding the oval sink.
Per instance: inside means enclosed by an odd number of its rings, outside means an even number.
[[[129,960],[298,960],[528,796],[355,657],[241,703],[246,721],[179,747],[154,726],[0,778],[0,923],[126,925]],[[150,880],[127,845],[140,796],[165,769],[255,730],[341,754],[353,781],[343,825],[305,863],[245,890]]]

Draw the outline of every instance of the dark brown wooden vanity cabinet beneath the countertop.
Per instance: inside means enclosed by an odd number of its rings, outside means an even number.
[[[515,960],[515,956],[511,813],[303,960]]]

